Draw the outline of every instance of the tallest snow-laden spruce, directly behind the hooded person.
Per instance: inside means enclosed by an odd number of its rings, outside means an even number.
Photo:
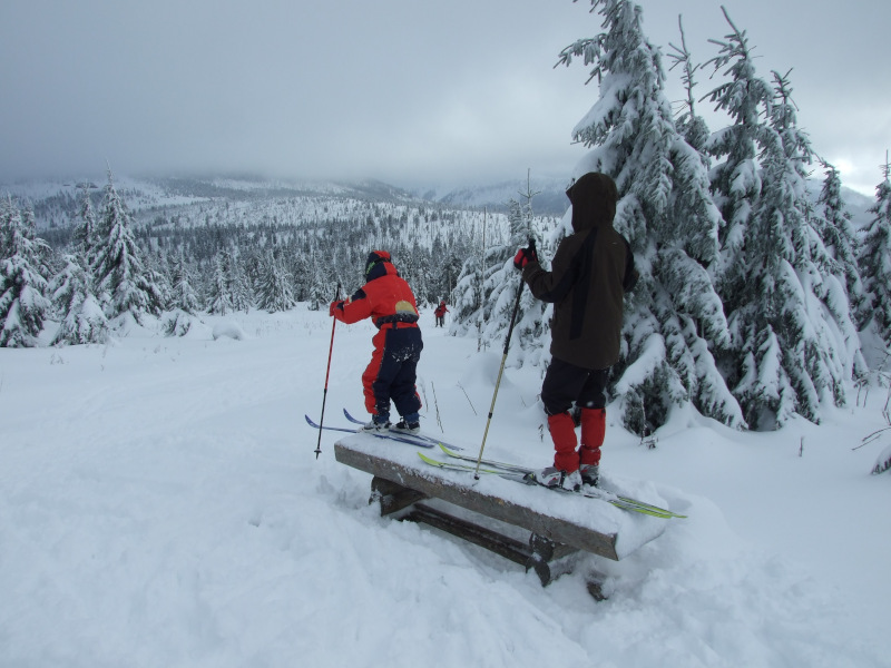
[[[571,45],[559,60],[584,57],[594,66],[590,79],[600,82],[598,101],[572,132],[591,148],[575,174],[603,171],[615,179],[614,224],[630,242],[642,275],[626,295],[623,358],[610,390],[624,397],[623,420],[638,433],[687,401],[743,426],[714,358],[730,333],[713,285],[723,222],[706,161],[675,126],[662,56],[643,33],[640,7],[629,0],[591,6],[604,17],[605,32]],[[567,214],[561,229],[569,232],[570,222]]]

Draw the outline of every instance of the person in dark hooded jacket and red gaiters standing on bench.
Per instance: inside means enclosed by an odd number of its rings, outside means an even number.
[[[541,401],[554,441],[554,466],[536,474],[548,487],[579,489],[599,479],[606,435],[606,384],[618,362],[625,293],[637,282],[628,240],[613,228],[618,190],[606,174],[588,173],[566,191],[572,234],[564,238],[546,272],[535,249],[520,248],[513,264],[536,298],[554,303],[551,361]],[[569,411],[580,409],[577,449]]]

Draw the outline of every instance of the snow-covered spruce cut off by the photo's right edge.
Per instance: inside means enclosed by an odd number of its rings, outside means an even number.
[[[869,208],[873,218],[864,230],[860,267],[868,294],[868,316],[891,348],[891,163],[887,154],[882,176],[875,186],[875,204]]]

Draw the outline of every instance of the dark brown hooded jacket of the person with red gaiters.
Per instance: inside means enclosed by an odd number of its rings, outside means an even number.
[[[625,293],[637,281],[634,255],[613,228],[618,191],[609,176],[588,173],[566,195],[572,234],[557,247],[550,272],[532,261],[522,277],[532,295],[554,303],[551,356],[607,369],[619,360]]]

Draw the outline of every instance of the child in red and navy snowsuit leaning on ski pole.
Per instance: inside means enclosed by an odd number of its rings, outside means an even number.
[[[386,250],[369,254],[365,281],[353,296],[332,302],[329,308],[330,315],[347,325],[370,317],[380,330],[371,340],[374,351],[362,374],[365,409],[371,413],[371,422],[363,429],[390,429],[392,400],[402,418],[393,429],[418,433],[421,399],[414,383],[424,344],[418,327],[414,294]]]

